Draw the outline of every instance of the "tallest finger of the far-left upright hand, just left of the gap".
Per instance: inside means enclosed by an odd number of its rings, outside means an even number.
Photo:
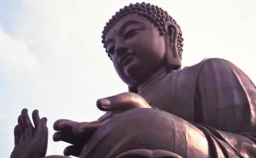
[[[22,123],[25,129],[25,138],[32,136],[33,126],[29,119],[28,109],[22,109]]]

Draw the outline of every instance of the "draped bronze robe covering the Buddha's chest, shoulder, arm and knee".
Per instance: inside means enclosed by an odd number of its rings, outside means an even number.
[[[152,93],[148,102],[158,109],[114,117],[93,134],[80,157],[110,158],[136,149],[256,157],[256,89],[231,62],[204,59],[168,74]]]

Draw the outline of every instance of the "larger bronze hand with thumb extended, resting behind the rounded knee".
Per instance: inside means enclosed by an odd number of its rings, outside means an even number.
[[[53,128],[57,132],[54,134],[53,140],[72,144],[66,147],[64,155],[79,156],[90,136],[113,116],[129,109],[151,108],[145,99],[132,92],[98,99],[96,105],[100,110],[106,111],[106,114],[100,117],[98,121],[77,123],[68,119],[59,119],[54,123]]]

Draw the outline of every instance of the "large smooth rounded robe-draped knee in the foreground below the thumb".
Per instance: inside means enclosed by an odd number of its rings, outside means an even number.
[[[159,109],[133,109],[99,128],[80,157],[112,158],[139,149],[163,150],[182,157],[212,157],[212,153],[217,153],[217,157],[236,157],[228,143],[209,136],[198,126]],[[227,148],[226,155],[219,142]]]

